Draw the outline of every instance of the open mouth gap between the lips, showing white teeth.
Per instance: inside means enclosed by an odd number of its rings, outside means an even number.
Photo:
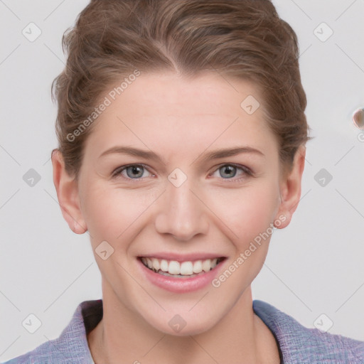
[[[197,260],[168,260],[155,257],[138,257],[142,264],[154,273],[166,277],[191,278],[200,274],[205,274],[215,269],[225,257],[215,257]]]

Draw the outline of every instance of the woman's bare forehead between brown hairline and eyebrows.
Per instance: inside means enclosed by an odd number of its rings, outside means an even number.
[[[105,94],[110,105],[87,139],[85,149],[90,152],[100,154],[119,144],[144,144],[179,155],[211,144],[277,147],[252,82],[218,73],[191,79],[176,73],[142,73],[120,95],[112,92],[121,83],[111,85]],[[115,93],[113,100],[109,95]]]

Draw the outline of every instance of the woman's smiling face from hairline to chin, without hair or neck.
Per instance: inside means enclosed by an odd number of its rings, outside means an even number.
[[[240,106],[249,95],[253,113]],[[258,90],[213,73],[141,74],[95,123],[75,215],[104,299],[165,333],[178,334],[175,315],[183,335],[208,330],[262,268],[273,224],[290,220]]]

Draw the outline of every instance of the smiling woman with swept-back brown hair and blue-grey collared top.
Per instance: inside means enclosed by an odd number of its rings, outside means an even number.
[[[363,363],[364,343],[252,301],[309,140],[272,3],[92,1],[63,41],[53,180],[102,300],[8,363]]]

